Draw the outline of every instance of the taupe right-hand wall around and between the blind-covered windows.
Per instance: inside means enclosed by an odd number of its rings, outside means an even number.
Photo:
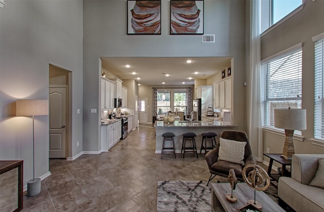
[[[304,9],[261,38],[262,59],[303,43],[302,108],[307,110],[307,129],[302,131],[303,142],[294,141],[295,153],[322,154],[324,148],[311,144],[314,134],[314,43],[312,37],[324,32],[324,1],[307,0]],[[264,132],[263,151],[282,153],[284,135]],[[268,158],[264,158],[268,160]]]

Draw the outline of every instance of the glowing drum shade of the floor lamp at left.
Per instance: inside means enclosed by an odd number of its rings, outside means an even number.
[[[16,116],[49,115],[49,101],[38,99],[16,100]]]

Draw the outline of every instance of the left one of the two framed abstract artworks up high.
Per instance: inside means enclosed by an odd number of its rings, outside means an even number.
[[[161,1],[127,1],[127,34],[161,34]]]

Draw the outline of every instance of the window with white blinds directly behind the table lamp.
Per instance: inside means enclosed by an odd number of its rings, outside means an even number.
[[[262,126],[274,128],[274,109],[302,105],[301,44],[262,60],[260,77]]]

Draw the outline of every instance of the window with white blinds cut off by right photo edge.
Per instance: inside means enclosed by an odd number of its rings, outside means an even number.
[[[314,137],[324,139],[324,33],[315,42]]]

